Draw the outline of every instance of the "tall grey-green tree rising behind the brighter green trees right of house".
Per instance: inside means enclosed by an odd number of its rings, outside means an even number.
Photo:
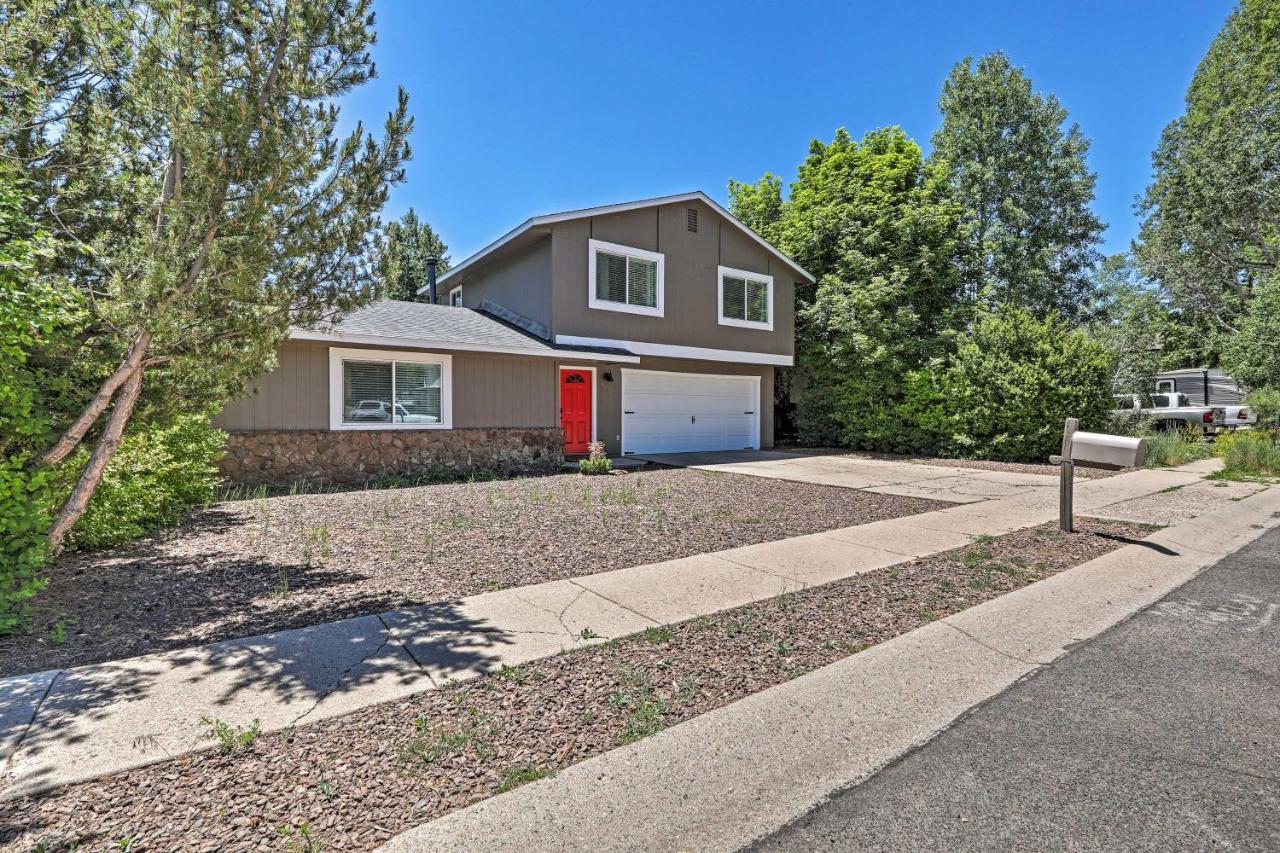
[[[1091,209],[1088,138],[1002,53],[952,68],[938,106],[932,156],[964,207],[970,301],[1074,318],[1103,229]]]

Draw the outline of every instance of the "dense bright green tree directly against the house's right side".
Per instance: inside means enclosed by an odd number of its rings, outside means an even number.
[[[731,186],[735,211],[771,210],[769,175]],[[759,204],[760,201],[764,204]],[[954,325],[959,209],[901,128],[814,141],[771,225],[818,277],[799,300],[799,425],[809,442],[896,448],[901,377],[941,355]]]

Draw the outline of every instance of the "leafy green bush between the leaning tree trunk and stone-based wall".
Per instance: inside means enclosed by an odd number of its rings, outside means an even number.
[[[125,433],[68,542],[81,549],[120,544],[206,503],[219,484],[218,461],[225,444],[227,434],[210,426],[206,415],[138,423]],[[87,459],[82,448],[68,473],[78,473]],[[64,489],[70,489],[70,478]]]

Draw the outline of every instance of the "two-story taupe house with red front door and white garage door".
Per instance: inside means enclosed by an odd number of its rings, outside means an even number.
[[[294,329],[215,421],[224,470],[360,482],[550,469],[596,439],[611,455],[769,447],[806,282],[701,192],[534,216],[440,277],[438,304]]]

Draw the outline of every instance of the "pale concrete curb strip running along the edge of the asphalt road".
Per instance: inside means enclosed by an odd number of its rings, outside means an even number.
[[[1280,489],[1267,489],[447,815],[384,849],[739,849],[1158,601],[1277,517]]]

